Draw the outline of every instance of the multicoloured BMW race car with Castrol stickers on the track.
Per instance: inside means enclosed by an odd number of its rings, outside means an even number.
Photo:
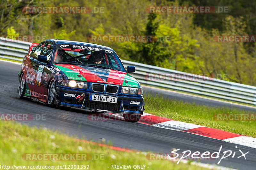
[[[32,43],[19,75],[19,97],[44,104],[119,113],[137,122],[144,111],[140,83],[109,47],[70,40]],[[131,116],[132,115],[132,116]]]

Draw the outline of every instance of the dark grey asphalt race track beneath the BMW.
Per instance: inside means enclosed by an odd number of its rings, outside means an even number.
[[[35,100],[21,100],[17,93],[19,71],[19,65],[0,61],[0,113],[23,113],[32,114],[33,116],[45,114],[45,120],[22,121],[22,123],[36,127],[42,126],[52,130],[59,129],[69,135],[85,136],[88,140],[92,139],[96,142],[100,141],[101,138],[105,138],[106,142],[111,141],[114,146],[156,153],[170,153],[172,148],[180,149],[178,152],[190,150],[191,152],[199,151],[203,153],[209,151],[213,153],[218,152],[222,145],[221,153],[231,150],[236,152],[236,155],[234,158],[231,155],[228,159],[221,160],[219,165],[235,169],[255,169],[256,149],[247,146],[237,145],[238,148],[236,148],[236,144],[221,140],[181,131],[156,128],[140,123],[121,120],[91,121],[88,119],[90,112],[85,112],[82,109],[56,109],[47,107]],[[165,93],[165,95],[181,100],[186,97],[182,95],[178,97],[178,93],[174,93],[175,96],[172,96],[171,92]],[[197,102],[196,98],[194,99]],[[201,100],[200,98],[199,101]],[[245,155],[246,160],[244,157],[237,159],[241,155],[238,151],[239,149],[243,153],[249,152]],[[218,159],[214,159],[201,162],[217,164],[218,161]],[[150,169],[150,166],[148,169]]]

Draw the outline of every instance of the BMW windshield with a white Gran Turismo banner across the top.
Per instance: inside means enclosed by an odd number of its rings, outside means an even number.
[[[57,44],[52,64],[75,64],[124,71],[121,60],[112,50],[75,44]]]

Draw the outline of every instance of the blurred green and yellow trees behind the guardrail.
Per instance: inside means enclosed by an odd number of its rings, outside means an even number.
[[[89,41],[90,35],[151,35],[153,42],[92,42],[113,48],[121,59],[156,65],[195,74],[211,74],[215,78],[256,85],[255,43],[216,42],[215,35],[255,34],[256,21],[248,18],[252,6],[241,2],[222,4],[222,1],[196,0],[44,0],[0,3],[0,33],[7,28],[19,35]],[[228,14],[149,14],[147,6],[179,5],[230,6]],[[243,5],[242,5],[243,4]],[[246,5],[245,5],[246,4]],[[91,13],[25,14],[22,7],[87,6]],[[103,13],[93,12],[103,8]],[[233,9],[239,9],[234,11]],[[243,12],[241,12],[243,11]],[[248,11],[248,12],[245,12]],[[252,21],[253,20],[253,21]],[[252,21],[252,22],[251,22]],[[12,32],[13,34],[14,32]],[[164,41],[159,37],[165,37]],[[168,38],[166,38],[168,37]],[[35,38],[34,38],[35,40]]]

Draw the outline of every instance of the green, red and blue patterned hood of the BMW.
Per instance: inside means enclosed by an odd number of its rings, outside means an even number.
[[[70,80],[106,83],[137,88],[140,87],[140,83],[135,78],[123,71],[71,64],[53,65],[60,69]]]

